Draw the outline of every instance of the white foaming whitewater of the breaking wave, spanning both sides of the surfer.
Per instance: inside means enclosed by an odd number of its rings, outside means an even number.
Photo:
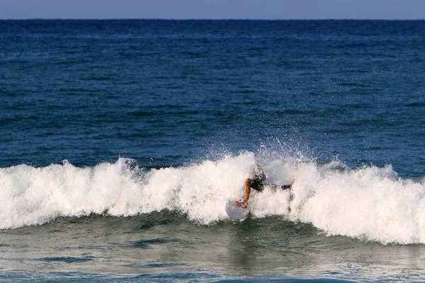
[[[283,216],[311,223],[328,236],[425,243],[424,179],[402,180],[391,166],[350,169],[340,161],[302,159],[264,163],[270,183],[295,179],[295,197],[290,202],[287,191],[254,191],[252,217]],[[58,216],[133,216],[163,209],[197,224],[215,224],[228,219],[225,203],[242,197],[255,162],[246,152],[179,168],[140,168],[128,158],[86,168],[68,161],[1,168],[0,228],[44,224]]]

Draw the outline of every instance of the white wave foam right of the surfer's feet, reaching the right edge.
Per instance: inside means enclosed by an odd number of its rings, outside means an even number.
[[[424,243],[424,186],[397,178],[391,166],[329,172],[294,186],[312,197],[293,204],[293,219],[328,235],[382,243]]]

